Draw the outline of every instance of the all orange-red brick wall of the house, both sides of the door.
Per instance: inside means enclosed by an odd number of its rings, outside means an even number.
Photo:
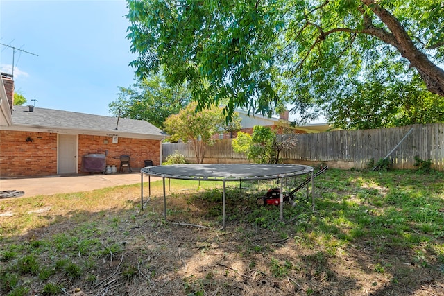
[[[27,138],[33,141],[26,141]],[[105,143],[108,141],[108,143]],[[82,156],[105,153],[106,161],[119,169],[120,155],[130,155],[131,168],[143,168],[144,160],[159,165],[160,141],[119,137],[78,136],[78,172]],[[133,170],[134,172],[135,170]],[[57,174],[57,134],[46,132],[15,132],[0,130],[0,177],[42,177]]]

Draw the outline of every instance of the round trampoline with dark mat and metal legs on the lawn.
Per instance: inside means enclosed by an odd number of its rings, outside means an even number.
[[[314,182],[311,166],[302,164],[173,164],[168,166],[146,166],[140,170],[141,175],[141,209],[144,208],[144,175],[148,175],[148,196],[151,196],[151,176],[162,177],[164,193],[164,219],[167,220],[167,195],[165,179],[221,181],[222,193],[222,227],[225,228],[225,189],[229,181],[280,180],[280,220],[283,220],[282,183],[285,178],[296,175],[309,175],[311,179],[311,202],[314,209]]]

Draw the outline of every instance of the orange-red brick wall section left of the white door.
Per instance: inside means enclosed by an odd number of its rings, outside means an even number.
[[[26,139],[32,141],[26,141]],[[56,175],[57,134],[0,131],[0,177]]]

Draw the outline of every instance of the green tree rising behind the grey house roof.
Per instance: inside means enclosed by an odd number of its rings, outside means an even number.
[[[114,116],[145,120],[164,129],[164,121],[171,114],[178,114],[191,100],[183,85],[171,87],[162,73],[137,80],[130,87],[119,87],[119,98],[110,103]]]

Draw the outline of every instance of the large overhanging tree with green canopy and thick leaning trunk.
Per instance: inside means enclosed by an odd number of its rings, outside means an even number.
[[[271,114],[282,103],[306,112],[370,64],[411,67],[444,96],[441,0],[132,0],[128,8],[137,75],[166,66],[167,81],[186,81],[200,107],[228,98],[228,115],[234,107]]]

